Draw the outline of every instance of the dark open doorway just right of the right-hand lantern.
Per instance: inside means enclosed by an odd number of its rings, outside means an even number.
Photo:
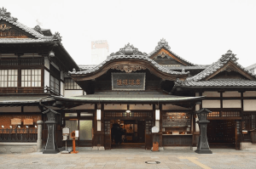
[[[210,148],[236,148],[236,121],[211,120],[207,125]]]

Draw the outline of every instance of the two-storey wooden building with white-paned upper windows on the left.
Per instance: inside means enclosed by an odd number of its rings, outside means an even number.
[[[64,95],[65,81],[66,88],[76,89],[67,76],[73,68],[79,70],[59,33],[38,25],[30,28],[0,8],[0,144],[37,142],[37,121],[46,118],[39,101],[54,104],[45,98]],[[47,137],[45,125],[43,134]]]

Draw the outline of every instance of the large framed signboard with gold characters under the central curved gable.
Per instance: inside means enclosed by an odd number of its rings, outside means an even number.
[[[112,73],[112,90],[145,90],[146,73]]]

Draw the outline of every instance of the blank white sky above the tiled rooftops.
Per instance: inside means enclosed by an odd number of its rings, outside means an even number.
[[[107,40],[110,54],[130,42],[150,53],[162,37],[171,50],[209,65],[231,49],[238,62],[256,63],[256,1],[247,0],[12,0],[1,7],[20,23],[59,31],[78,65],[90,64],[90,42]]]

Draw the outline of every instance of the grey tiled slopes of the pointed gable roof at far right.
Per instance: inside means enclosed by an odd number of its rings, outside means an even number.
[[[232,51],[228,51],[227,54],[224,54],[220,59],[218,59],[217,62],[214,62],[212,65],[208,66],[205,70],[202,70],[200,73],[198,73],[195,76],[189,77],[186,79],[187,82],[199,82],[202,79],[206,78],[207,76],[211,76],[213,73],[215,73],[217,70],[222,68],[225,64],[227,64],[229,61],[232,61],[235,65],[237,65],[241,70],[244,70],[249,74],[250,76],[255,76],[252,72],[247,70],[246,68],[242,67],[236,62],[236,54],[232,54]]]

